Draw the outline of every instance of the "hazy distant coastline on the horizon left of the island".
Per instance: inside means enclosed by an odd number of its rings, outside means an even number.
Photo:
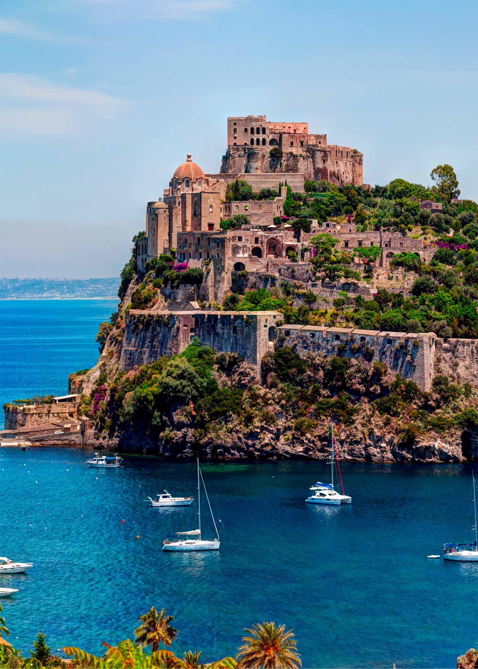
[[[0,278],[0,300],[117,298],[120,280],[107,279],[5,279]]]

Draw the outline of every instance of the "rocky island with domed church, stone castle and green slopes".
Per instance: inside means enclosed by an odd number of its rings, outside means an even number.
[[[228,118],[220,172],[188,154],[147,203],[97,365],[5,405],[3,436],[326,458],[333,421],[343,460],[476,460],[478,206],[449,165],[362,169],[307,123]]]

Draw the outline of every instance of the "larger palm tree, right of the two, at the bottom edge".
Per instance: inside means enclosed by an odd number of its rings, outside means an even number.
[[[302,666],[297,642],[292,630],[274,622],[253,625],[245,630],[251,636],[242,637],[244,645],[238,648],[238,669],[297,669]],[[297,663],[297,664],[296,664]]]

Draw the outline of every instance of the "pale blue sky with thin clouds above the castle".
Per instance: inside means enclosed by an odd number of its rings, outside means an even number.
[[[226,117],[308,121],[364,181],[478,199],[476,2],[2,0],[0,276],[116,276],[145,203]]]

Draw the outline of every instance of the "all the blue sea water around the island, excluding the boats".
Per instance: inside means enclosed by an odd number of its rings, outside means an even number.
[[[94,335],[116,304],[2,302],[1,397],[66,392],[96,361]],[[24,654],[39,630],[52,651],[133,638],[139,615],[167,608],[176,653],[234,655],[245,628],[293,629],[303,667],[456,666],[477,642],[478,564],[427,559],[473,536],[471,464],[344,463],[352,503],[305,504],[317,462],[202,462],[220,550],[164,553],[194,529],[194,506],[152,508],[168,488],[197,496],[194,462],[124,455],[88,468],[91,451],[0,449],[0,555],[33,562],[1,599]],[[202,496],[204,538],[214,526]]]

